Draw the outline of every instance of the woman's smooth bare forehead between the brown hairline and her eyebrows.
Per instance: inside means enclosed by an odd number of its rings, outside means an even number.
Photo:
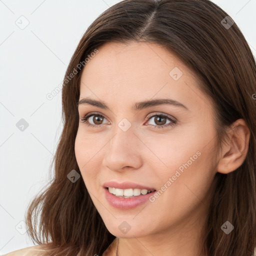
[[[159,44],[107,42],[83,68],[80,97],[131,104],[131,99],[167,96],[200,109],[209,102],[199,82],[192,70]]]

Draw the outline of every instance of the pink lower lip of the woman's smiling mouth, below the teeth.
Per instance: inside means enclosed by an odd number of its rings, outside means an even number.
[[[138,205],[149,200],[149,197],[156,192],[156,191],[154,191],[154,192],[137,195],[137,196],[130,197],[130,198],[124,198],[124,197],[118,197],[118,196],[115,196],[114,194],[111,194],[108,191],[108,188],[104,188],[104,190],[105,190],[106,200],[109,202],[109,204],[111,206],[118,208],[118,209],[135,208]]]

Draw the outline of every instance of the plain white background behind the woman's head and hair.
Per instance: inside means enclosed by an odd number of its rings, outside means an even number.
[[[0,254],[34,245],[22,232],[32,197],[49,178],[62,129],[68,62],[89,24],[118,0],[0,0]],[[213,0],[236,22],[256,55],[256,0]],[[16,23],[29,24],[20,29]],[[20,21],[22,19],[22,21]],[[21,24],[20,24],[21,25]],[[16,123],[24,118],[28,127]]]

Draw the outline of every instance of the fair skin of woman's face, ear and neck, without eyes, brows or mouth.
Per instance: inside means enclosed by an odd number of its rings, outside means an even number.
[[[76,160],[91,199],[109,232],[119,237],[119,255],[198,256],[212,180],[217,171],[228,173],[242,164],[248,127],[243,119],[236,120],[236,128],[228,129],[228,143],[213,157],[214,108],[188,67],[158,44],[108,42],[98,50],[82,71],[80,98],[104,101],[110,110],[79,105],[80,118],[94,111],[104,118],[93,122],[96,114],[87,119],[98,127],[80,121],[75,139]],[[183,73],[177,80],[169,75],[174,67]],[[131,108],[135,102],[155,98],[177,100],[189,111],[167,104]],[[167,118],[160,123],[148,118],[160,113],[176,123],[167,126]],[[123,118],[131,123],[127,131],[118,126]],[[123,210],[105,199],[102,185],[110,180],[161,189],[197,151],[201,153],[197,159],[155,201]],[[123,221],[131,227],[126,233],[118,228]],[[106,255],[115,255],[116,245],[114,240]]]

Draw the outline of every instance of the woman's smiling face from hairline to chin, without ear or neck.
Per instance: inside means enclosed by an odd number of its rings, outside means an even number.
[[[80,102],[79,117],[91,116],[79,122],[75,156],[107,229],[141,237],[198,228],[216,173],[211,102],[193,72],[160,45],[108,42],[98,50],[81,75],[87,103]],[[155,192],[141,194],[148,189]],[[116,196],[123,191],[134,195]]]

